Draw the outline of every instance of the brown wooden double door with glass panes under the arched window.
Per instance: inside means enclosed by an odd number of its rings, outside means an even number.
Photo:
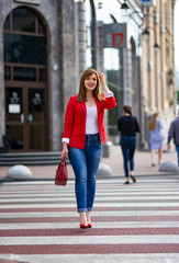
[[[47,150],[46,90],[5,87],[7,136],[10,150]]]

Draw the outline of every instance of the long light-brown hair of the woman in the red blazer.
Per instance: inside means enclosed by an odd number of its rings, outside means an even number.
[[[78,92],[78,101],[79,102],[86,102],[87,101],[87,92],[86,92],[86,87],[85,87],[85,80],[87,77],[91,76],[91,75],[96,75],[97,76],[97,87],[96,89],[92,91],[93,95],[96,98],[98,98],[99,101],[103,101],[103,93],[101,92],[101,88],[100,88],[100,78],[99,75],[97,72],[97,70],[94,69],[87,69],[80,79],[80,84],[79,84],[79,92]]]

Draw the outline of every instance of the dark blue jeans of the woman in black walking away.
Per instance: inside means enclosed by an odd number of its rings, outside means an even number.
[[[128,162],[131,171],[134,171],[134,153],[136,149],[136,136],[121,136],[120,141],[123,159],[124,159],[124,172],[128,178]]]

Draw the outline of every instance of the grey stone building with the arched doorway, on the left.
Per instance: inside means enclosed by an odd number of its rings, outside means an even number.
[[[86,68],[83,3],[0,0],[0,147],[59,150],[64,108]]]

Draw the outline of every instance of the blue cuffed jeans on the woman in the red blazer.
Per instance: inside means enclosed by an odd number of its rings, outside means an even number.
[[[79,213],[92,210],[101,155],[102,145],[99,134],[86,135],[85,149],[68,147],[69,161],[75,172],[75,192]]]

